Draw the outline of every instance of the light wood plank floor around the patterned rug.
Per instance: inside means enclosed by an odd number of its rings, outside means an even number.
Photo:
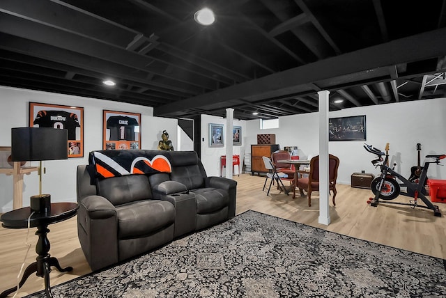
[[[378,207],[367,205],[371,196],[368,189],[355,189],[349,185],[338,185],[336,207],[331,203],[331,224],[318,224],[318,192],[312,198],[312,207],[308,207],[307,198],[286,196],[275,187],[269,196],[262,191],[265,178],[242,174],[234,176],[238,181],[236,213],[256,210],[276,217],[282,217],[309,226],[316,226],[351,237],[369,240],[388,246],[415,251],[437,258],[446,258],[446,217],[434,217],[431,210],[412,209],[406,205],[385,205]],[[400,196],[394,201],[407,203],[410,198]],[[420,202],[422,204],[422,202]],[[438,203],[440,210],[446,214],[446,205]],[[91,272],[79,240],[77,240],[76,217],[49,226],[51,242],[49,253],[58,258],[62,267],[72,266],[72,272],[61,273],[53,268],[51,285],[56,285]],[[31,249],[26,258],[29,265],[36,259],[36,229],[29,232],[28,243]],[[24,260],[27,246],[26,230],[0,228],[0,292],[17,284],[17,274]],[[416,260],[415,260],[416,261]],[[17,297],[43,290],[43,279],[32,274],[20,289]],[[10,295],[12,297],[13,295]]]

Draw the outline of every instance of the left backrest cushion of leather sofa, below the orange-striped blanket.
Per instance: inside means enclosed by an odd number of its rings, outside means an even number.
[[[113,205],[152,198],[151,186],[146,175],[127,175],[98,181],[98,195]]]

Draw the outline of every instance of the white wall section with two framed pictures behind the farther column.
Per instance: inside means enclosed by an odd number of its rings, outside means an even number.
[[[223,124],[225,125],[225,135],[224,135],[224,147],[209,147],[209,123],[215,124]],[[246,128],[245,120],[236,120],[234,119],[233,125],[242,127],[242,145],[241,146],[233,146],[233,155],[240,155],[240,168],[243,164],[243,154],[247,147],[250,146],[251,143],[248,141],[248,134]],[[203,163],[204,168],[206,169],[206,173],[208,176],[220,176],[221,171],[221,163],[220,157],[222,155],[226,155],[226,118],[210,116],[210,115],[201,115],[201,162]],[[241,169],[240,169],[241,171]],[[238,173],[238,167],[235,166],[234,173]],[[224,175],[224,171],[223,171]]]

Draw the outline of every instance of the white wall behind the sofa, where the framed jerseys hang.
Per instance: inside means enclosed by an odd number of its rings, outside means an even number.
[[[178,121],[170,118],[153,117],[153,108],[135,104],[110,102],[88,97],[61,95],[20,88],[0,86],[0,146],[11,145],[11,128],[27,127],[29,102],[62,104],[84,107],[84,157],[60,161],[46,161],[43,165],[47,173],[43,175],[43,193],[51,194],[52,201],[76,201],[76,168],[87,164],[89,152],[102,150],[102,110],[141,113],[141,148],[157,149],[162,130],[169,132],[169,139],[177,146],[176,126]],[[33,162],[38,166],[38,162]],[[36,172],[24,176],[23,205],[29,206],[29,197],[38,194]],[[13,207],[13,178],[0,175],[0,210],[7,212]]]

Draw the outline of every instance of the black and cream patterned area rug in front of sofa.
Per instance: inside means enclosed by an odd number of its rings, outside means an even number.
[[[54,297],[446,297],[445,261],[248,211]],[[29,297],[45,297],[38,292]]]

